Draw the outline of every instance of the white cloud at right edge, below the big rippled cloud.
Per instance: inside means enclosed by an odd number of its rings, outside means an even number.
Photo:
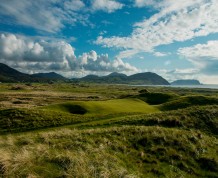
[[[201,72],[218,74],[218,41],[180,48],[178,54],[191,61]]]

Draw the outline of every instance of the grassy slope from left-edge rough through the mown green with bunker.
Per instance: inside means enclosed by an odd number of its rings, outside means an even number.
[[[157,111],[159,110],[139,99],[78,101],[34,109],[6,109],[0,110],[0,133],[57,127]]]

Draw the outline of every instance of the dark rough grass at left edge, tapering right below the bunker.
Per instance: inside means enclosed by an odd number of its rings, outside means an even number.
[[[94,120],[76,114],[42,109],[0,110],[0,133],[30,131]]]

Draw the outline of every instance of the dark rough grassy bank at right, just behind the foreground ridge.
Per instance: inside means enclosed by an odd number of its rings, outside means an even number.
[[[189,107],[175,111],[154,114],[137,114],[107,120],[78,124],[76,127],[95,128],[123,125],[160,126],[165,128],[195,129],[218,136],[218,106]]]

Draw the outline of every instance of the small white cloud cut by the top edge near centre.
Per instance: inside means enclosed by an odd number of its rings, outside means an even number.
[[[122,9],[124,5],[115,0],[92,0],[92,9],[102,10],[108,13],[112,13],[116,10]]]

